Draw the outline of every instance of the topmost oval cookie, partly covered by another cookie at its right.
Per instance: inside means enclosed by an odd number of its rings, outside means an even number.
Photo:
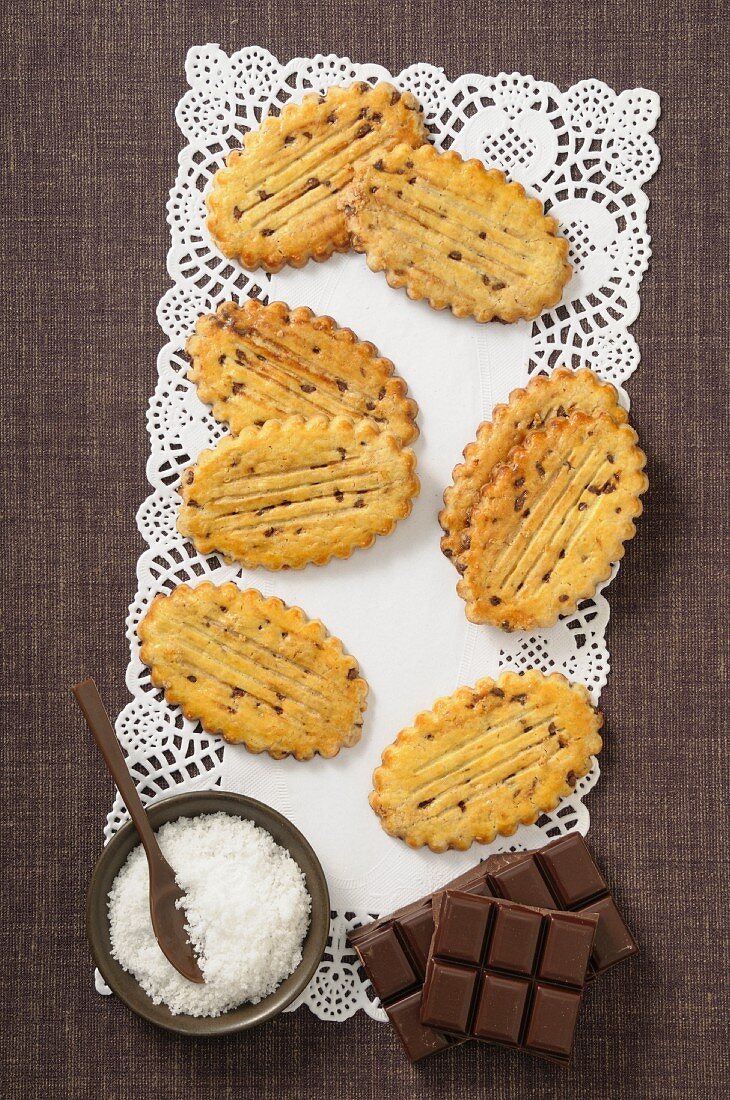
[[[213,179],[208,229],[244,267],[277,272],[346,252],[338,195],[355,166],[398,142],[428,138],[419,102],[389,84],[305,96],[246,134]]]

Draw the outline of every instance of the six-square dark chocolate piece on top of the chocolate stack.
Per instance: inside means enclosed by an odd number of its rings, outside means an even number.
[[[566,1066],[599,917],[447,890],[421,1021]]]

